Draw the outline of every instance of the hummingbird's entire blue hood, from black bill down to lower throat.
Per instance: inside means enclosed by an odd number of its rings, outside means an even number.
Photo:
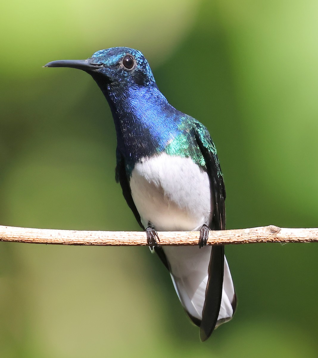
[[[129,161],[130,168],[138,159],[163,150],[185,118],[159,91],[138,50],[113,47],[86,60],[53,61],[45,67],[78,68],[93,77],[114,118],[118,153]]]

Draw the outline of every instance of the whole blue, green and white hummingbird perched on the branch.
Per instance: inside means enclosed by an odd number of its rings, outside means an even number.
[[[115,179],[205,341],[237,302],[224,245],[207,245],[209,230],[225,229],[223,174],[207,128],[168,103],[138,50],[113,47],[44,67],[81,69],[106,97],[117,137]],[[200,237],[197,246],[160,246],[157,231]]]

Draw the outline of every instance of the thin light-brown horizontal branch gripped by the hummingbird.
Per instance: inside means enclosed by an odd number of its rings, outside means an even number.
[[[198,245],[198,231],[162,231],[161,245]],[[60,245],[146,246],[142,231],[78,231],[0,226],[0,241]],[[210,231],[208,244],[255,242],[318,242],[318,228],[292,229],[274,225]]]

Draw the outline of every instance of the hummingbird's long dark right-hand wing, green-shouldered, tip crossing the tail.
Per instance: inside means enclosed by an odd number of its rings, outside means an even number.
[[[205,161],[213,196],[214,214],[209,226],[213,230],[224,230],[225,186],[217,151],[208,130],[200,122],[194,122],[194,135]],[[200,325],[200,339],[202,342],[210,337],[218,321],[222,301],[224,245],[212,246],[208,274],[209,278]]]

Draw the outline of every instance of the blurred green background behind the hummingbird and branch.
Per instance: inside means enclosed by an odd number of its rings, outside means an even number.
[[[209,129],[227,228],[317,227],[317,0],[1,5],[0,224],[138,230],[108,104],[42,66],[128,46]],[[317,244],[226,248],[239,305],[199,342],[148,248],[0,243],[0,357],[317,357]]]

